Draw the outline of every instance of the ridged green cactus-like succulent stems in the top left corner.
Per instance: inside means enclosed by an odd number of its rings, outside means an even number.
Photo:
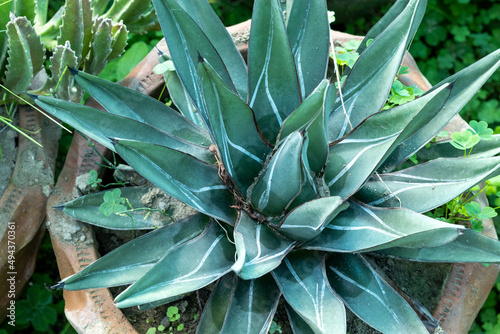
[[[66,66],[99,74],[127,44],[127,27],[143,32],[157,25],[149,1],[67,0],[50,20],[47,0],[13,0],[0,6],[0,79],[15,93],[23,93],[44,70],[50,54],[50,77],[37,94],[54,92],[58,98],[79,102],[83,97]],[[108,8],[109,7],[109,8]]]

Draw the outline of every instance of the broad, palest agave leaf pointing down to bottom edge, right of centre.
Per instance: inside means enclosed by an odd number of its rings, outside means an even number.
[[[314,333],[345,333],[342,301],[332,292],[321,253],[290,253],[273,271],[283,297]]]

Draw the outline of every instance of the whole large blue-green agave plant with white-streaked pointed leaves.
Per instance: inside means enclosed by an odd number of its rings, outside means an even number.
[[[35,99],[199,213],[155,229],[149,212],[133,209],[147,189],[133,187],[62,204],[98,226],[154,230],[59,287],[132,284],[117,306],[148,308],[217,281],[198,333],[266,333],[281,297],[295,333],[345,333],[345,307],[385,333],[427,333],[365,254],[500,262],[499,242],[422,214],[500,174],[494,150],[397,169],[498,68],[500,51],[382,110],[426,1],[395,3],[361,43],[341,90],[327,78],[325,0],[256,0],[248,68],[208,2],[153,3],[179,112],[76,70],[107,111]],[[119,214],[100,212],[103,201]]]

